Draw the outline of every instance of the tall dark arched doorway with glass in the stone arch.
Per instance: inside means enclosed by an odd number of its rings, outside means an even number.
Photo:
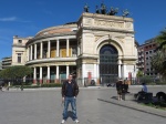
[[[118,78],[118,53],[112,44],[105,44],[100,50],[101,84],[115,83]]]

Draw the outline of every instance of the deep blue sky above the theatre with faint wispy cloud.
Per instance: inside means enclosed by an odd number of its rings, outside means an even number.
[[[0,0],[0,60],[11,56],[13,35],[34,37],[42,29],[77,21],[85,3],[90,12],[104,1],[107,8],[128,9],[139,44],[166,28],[166,0]]]

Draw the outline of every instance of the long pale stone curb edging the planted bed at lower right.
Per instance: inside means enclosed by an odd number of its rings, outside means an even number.
[[[152,114],[152,115],[156,115],[156,116],[166,118],[166,111],[156,110],[154,107],[143,106],[143,105],[139,105],[139,104],[128,104],[129,102],[127,102],[127,104],[124,104],[123,102],[121,102],[121,103],[120,102],[114,102],[113,100],[103,100],[103,99],[97,99],[97,100],[102,101],[102,102],[111,103],[111,104],[118,105],[118,106],[124,106],[124,107],[127,107],[127,108],[131,108],[131,110],[144,112],[144,113],[147,113],[147,114]]]

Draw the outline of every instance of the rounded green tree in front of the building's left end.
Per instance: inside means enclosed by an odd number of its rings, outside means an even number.
[[[25,65],[15,65],[4,69],[0,72],[2,79],[22,79],[32,73],[32,70]]]

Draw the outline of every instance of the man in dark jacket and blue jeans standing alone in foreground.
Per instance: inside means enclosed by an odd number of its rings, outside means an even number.
[[[73,80],[73,76],[71,74],[69,75],[69,79],[65,82],[63,82],[61,92],[62,92],[62,103],[64,103],[63,120],[61,124],[65,123],[68,118],[68,107],[70,103],[73,112],[72,118],[73,121],[75,121],[75,123],[79,123],[76,115],[76,96],[79,94],[79,85]]]

